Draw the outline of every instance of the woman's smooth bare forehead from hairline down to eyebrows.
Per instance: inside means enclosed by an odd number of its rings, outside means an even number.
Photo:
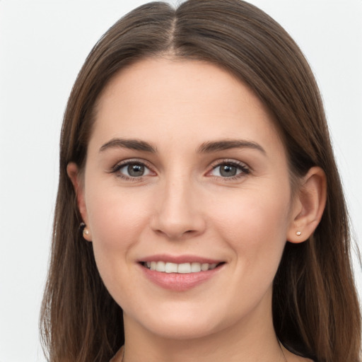
[[[116,74],[100,96],[92,139],[168,142],[247,138],[279,146],[266,107],[228,71],[206,62],[151,58]]]

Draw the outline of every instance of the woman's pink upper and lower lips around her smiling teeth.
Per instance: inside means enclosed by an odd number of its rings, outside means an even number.
[[[142,265],[142,262],[173,262],[176,264],[182,264],[186,262],[199,262],[199,263],[208,263],[208,264],[220,264],[215,269],[210,269],[206,271],[199,271],[196,273],[164,273],[162,271],[151,270]],[[188,291],[200,284],[209,281],[211,278],[216,276],[221,269],[224,267],[223,260],[209,259],[205,257],[198,257],[195,255],[152,255],[150,257],[145,257],[139,260],[139,267],[144,273],[146,279],[151,281],[153,284],[160,286],[161,288],[168,289],[170,291]]]

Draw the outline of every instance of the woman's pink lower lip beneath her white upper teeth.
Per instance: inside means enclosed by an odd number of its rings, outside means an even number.
[[[141,264],[140,267],[154,284],[171,291],[188,291],[215,276],[223,268],[223,264],[215,269],[187,274],[151,270]]]

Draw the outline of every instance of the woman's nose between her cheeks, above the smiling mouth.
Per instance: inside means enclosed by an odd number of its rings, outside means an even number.
[[[180,240],[204,233],[206,221],[199,193],[192,182],[168,182],[155,194],[155,213],[151,220],[154,232],[169,240]]]

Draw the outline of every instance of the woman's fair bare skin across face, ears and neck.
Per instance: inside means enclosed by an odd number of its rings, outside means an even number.
[[[114,139],[141,140],[156,152],[104,146]],[[200,152],[221,140],[260,149]],[[127,178],[127,162],[145,163],[144,175]],[[221,174],[230,163],[235,177]],[[286,240],[301,243],[317,226],[325,179],[313,168],[292,193],[284,145],[243,83],[214,65],[166,57],[123,69],[98,102],[85,170],[71,163],[68,173],[84,237],[124,310],[125,362],[284,361],[272,281]],[[204,283],[173,291],[139,264],[165,253],[224,264]]]

